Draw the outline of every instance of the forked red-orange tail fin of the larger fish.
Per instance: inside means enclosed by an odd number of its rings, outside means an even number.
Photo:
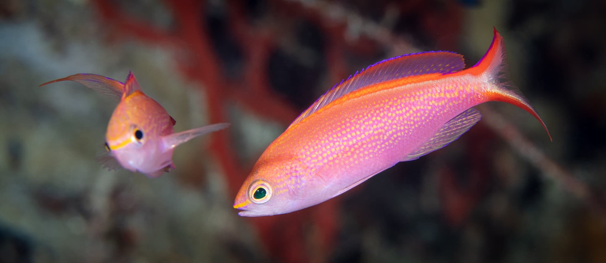
[[[518,106],[538,119],[545,128],[549,139],[551,134],[547,130],[547,125],[539,116],[539,113],[528,103],[528,100],[522,95],[522,92],[509,80],[509,71],[507,68],[507,53],[505,52],[505,43],[503,37],[494,28],[493,41],[490,48],[482,59],[473,67],[467,70],[473,75],[483,75],[488,78],[488,82],[494,84],[494,89],[487,92],[488,100],[503,101]]]

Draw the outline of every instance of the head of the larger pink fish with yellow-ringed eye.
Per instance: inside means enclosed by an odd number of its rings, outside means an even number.
[[[292,158],[262,157],[242,184],[233,208],[243,217],[261,217],[298,211],[313,204],[313,183],[307,166]]]

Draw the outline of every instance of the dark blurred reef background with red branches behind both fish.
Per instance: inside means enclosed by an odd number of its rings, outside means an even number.
[[[0,2],[0,262],[606,262],[604,1]],[[493,26],[550,128],[504,103],[442,150],[287,215],[242,218],[262,151],[372,63]],[[93,160],[115,104],[77,83],[132,70],[182,131],[158,179]]]

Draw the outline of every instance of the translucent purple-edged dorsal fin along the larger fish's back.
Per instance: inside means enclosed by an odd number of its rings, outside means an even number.
[[[335,85],[331,90],[324,93],[315,103],[299,115],[288,128],[311,113],[326,106],[331,101],[341,98],[343,95],[354,90],[370,86],[384,81],[396,80],[414,75],[442,73],[447,74],[460,71],[465,68],[463,56],[448,51],[429,51],[413,54],[405,54],[399,57],[383,60],[368,66],[361,72],[356,72],[345,81]]]

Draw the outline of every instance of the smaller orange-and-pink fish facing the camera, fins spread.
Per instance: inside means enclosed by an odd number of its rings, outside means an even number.
[[[122,166],[147,177],[161,176],[175,169],[173,151],[179,144],[230,125],[212,124],[175,133],[175,119],[142,92],[132,72],[128,72],[126,83],[102,75],[76,74],[40,86],[64,80],[78,82],[119,102],[107,125],[105,151],[96,158],[109,170]]]

